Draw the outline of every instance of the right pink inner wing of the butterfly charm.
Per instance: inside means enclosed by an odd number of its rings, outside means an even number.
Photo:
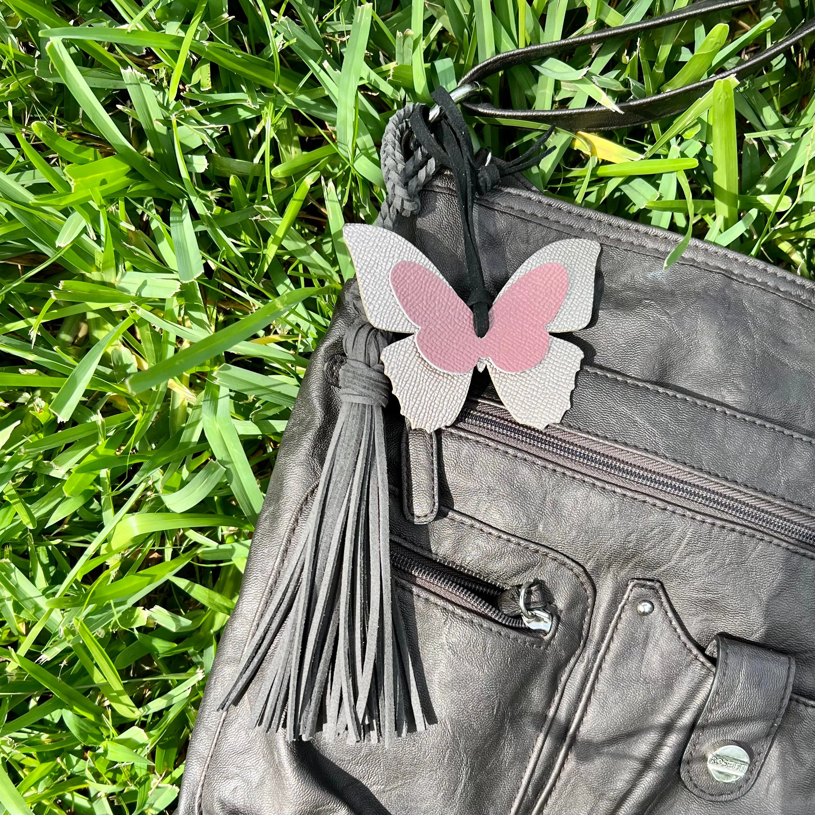
[[[489,357],[502,371],[533,368],[549,347],[546,326],[566,299],[569,273],[560,263],[544,263],[504,289],[490,311]]]

